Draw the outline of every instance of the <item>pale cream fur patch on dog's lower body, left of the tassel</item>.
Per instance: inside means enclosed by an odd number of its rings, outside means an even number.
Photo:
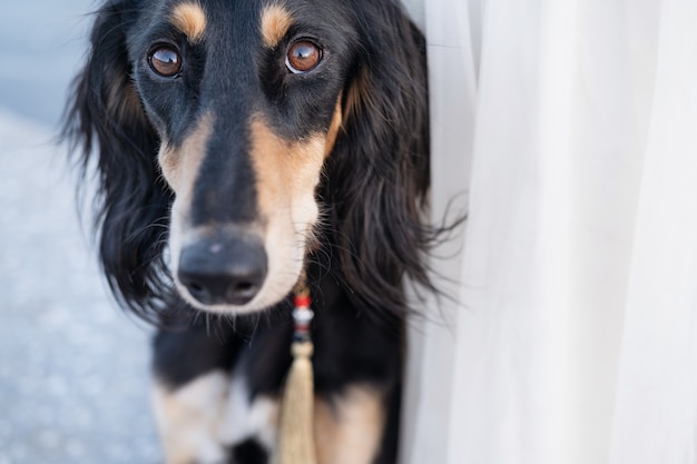
[[[228,384],[225,374],[213,372],[174,391],[156,385],[153,405],[168,464],[225,460],[226,451],[217,430]]]

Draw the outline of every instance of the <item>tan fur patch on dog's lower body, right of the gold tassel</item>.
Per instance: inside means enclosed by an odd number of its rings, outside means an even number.
[[[371,464],[385,426],[383,396],[374,388],[352,387],[336,401],[315,401],[317,461]]]

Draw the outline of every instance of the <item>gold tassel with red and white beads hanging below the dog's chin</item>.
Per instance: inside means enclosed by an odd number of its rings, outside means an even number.
[[[304,278],[295,288],[295,338],[291,347],[293,364],[288,372],[278,422],[278,442],[274,464],[316,464],[314,440],[313,344],[310,324],[310,292]]]

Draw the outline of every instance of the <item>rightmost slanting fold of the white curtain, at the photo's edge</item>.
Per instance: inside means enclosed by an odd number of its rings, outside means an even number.
[[[695,463],[697,3],[660,9],[611,463]]]

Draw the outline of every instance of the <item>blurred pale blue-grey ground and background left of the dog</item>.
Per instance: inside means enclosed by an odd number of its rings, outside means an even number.
[[[53,142],[90,0],[0,14],[0,464],[156,463],[151,329],[106,289]]]

